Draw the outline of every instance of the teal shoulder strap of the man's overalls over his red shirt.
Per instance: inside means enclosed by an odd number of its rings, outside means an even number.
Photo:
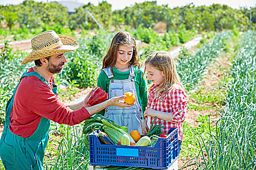
[[[45,80],[43,77],[41,77],[39,73],[37,73],[37,72],[35,72],[35,71],[27,73],[27,71],[28,71],[28,69],[21,75],[20,81],[21,81],[21,79],[24,78],[24,77],[36,76],[36,77],[38,77],[39,80],[41,80],[43,83],[45,83],[46,85],[49,85],[48,82],[46,82],[46,80]],[[26,74],[26,73],[27,73],[27,74]],[[19,81],[19,84],[15,87],[11,99],[9,99],[8,102],[7,102],[7,104],[6,104],[6,109],[5,109],[5,124],[4,124],[4,126],[7,126],[7,127],[10,125],[10,115],[11,115],[12,108],[13,108],[13,100],[14,100],[14,96],[15,96],[16,90],[17,90],[18,86],[20,85],[20,81]],[[51,88],[50,85],[49,85],[49,87]]]

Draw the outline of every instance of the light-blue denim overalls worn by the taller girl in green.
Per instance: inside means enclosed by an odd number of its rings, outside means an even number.
[[[111,68],[103,68],[103,71],[107,74],[110,80],[108,98],[122,96],[126,92],[132,92],[136,101],[131,107],[117,107],[108,106],[105,110],[105,117],[110,120],[114,120],[118,125],[126,126],[128,128],[128,133],[132,130],[138,130],[141,134],[141,124],[142,124],[142,111],[141,106],[138,102],[138,96],[136,93],[136,87],[134,82],[134,66],[129,66],[130,74],[129,78],[126,80],[115,80]]]

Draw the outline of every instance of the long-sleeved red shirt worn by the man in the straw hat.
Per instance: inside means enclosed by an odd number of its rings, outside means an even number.
[[[28,72],[34,71],[30,68]],[[48,82],[55,83],[53,77]],[[75,125],[90,117],[86,108],[73,111],[65,105],[52,89],[36,76],[24,77],[17,88],[10,117],[12,133],[21,137],[31,136],[42,117],[59,124]]]

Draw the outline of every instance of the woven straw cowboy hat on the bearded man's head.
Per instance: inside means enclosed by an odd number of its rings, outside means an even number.
[[[32,52],[24,58],[21,64],[79,48],[75,38],[69,35],[58,35],[53,30],[36,35],[31,39],[31,46]]]

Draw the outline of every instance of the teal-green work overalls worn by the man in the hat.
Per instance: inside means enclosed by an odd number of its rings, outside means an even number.
[[[49,85],[37,72],[29,72],[27,74],[26,72],[27,70],[22,74],[20,81],[23,77],[36,76],[39,80]],[[42,117],[37,130],[29,137],[21,137],[10,131],[10,114],[19,85],[20,82],[16,86],[10,102],[7,102],[5,125],[0,140],[0,157],[6,170],[42,170],[44,150],[48,142],[51,120]],[[57,95],[57,85],[53,86],[52,90]]]

